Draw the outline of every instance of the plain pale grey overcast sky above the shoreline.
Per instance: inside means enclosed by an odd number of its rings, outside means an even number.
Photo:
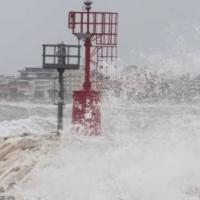
[[[40,67],[43,43],[76,42],[67,27],[67,14],[81,10],[83,0],[0,1],[0,74],[12,75],[22,67]],[[155,64],[159,62],[155,55],[160,60],[172,56],[179,58],[176,62],[185,62],[185,54],[200,55],[199,0],[93,2],[95,10],[119,12],[119,57],[126,63],[145,65],[151,60]],[[194,56],[186,62],[189,65],[193,60]]]

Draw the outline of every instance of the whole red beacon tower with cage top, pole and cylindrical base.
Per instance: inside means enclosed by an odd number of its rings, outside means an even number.
[[[91,5],[88,0],[85,11],[71,11],[68,16],[68,28],[85,46],[85,82],[83,89],[73,92],[72,131],[99,135],[101,92],[92,89],[90,79],[95,75],[100,82],[102,62],[117,60],[118,13],[91,12]],[[91,67],[95,67],[93,71]]]

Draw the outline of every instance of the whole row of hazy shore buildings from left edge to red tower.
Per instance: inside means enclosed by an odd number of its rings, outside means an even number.
[[[18,72],[17,77],[0,76],[0,99],[57,100],[59,91],[57,70],[27,67]],[[83,67],[79,70],[65,71],[65,101],[72,101],[73,91],[83,88],[84,78]]]

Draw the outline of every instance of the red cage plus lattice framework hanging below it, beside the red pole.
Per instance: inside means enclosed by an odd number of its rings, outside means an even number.
[[[89,33],[87,25],[89,20]],[[96,78],[96,84],[102,85],[99,76],[99,67],[102,61],[111,62],[117,66],[117,36],[118,36],[118,13],[116,12],[70,12],[68,16],[68,28],[82,41],[85,39],[83,34],[90,34],[92,51],[90,62],[93,71],[90,77]]]

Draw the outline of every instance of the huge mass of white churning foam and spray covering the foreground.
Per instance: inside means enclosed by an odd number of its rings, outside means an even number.
[[[70,136],[68,127],[17,190],[29,199],[200,199],[200,107],[115,102],[102,114],[102,136]]]

